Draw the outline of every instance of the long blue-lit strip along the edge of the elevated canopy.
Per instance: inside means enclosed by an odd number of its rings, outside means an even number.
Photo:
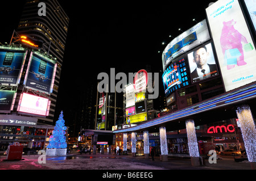
[[[207,102],[196,104],[195,106],[185,108],[184,110],[172,112],[169,115],[166,115],[163,117],[158,117],[154,120],[147,121],[146,123],[139,124],[135,127],[115,130],[113,131],[113,133],[138,131],[139,129],[156,126],[159,124],[166,123],[168,121],[174,121],[182,117],[186,117],[188,115],[194,115],[202,111],[211,110],[214,107],[222,107],[222,106],[225,106],[226,104],[231,104],[233,102],[237,102],[243,99],[253,98],[254,96],[256,96],[255,91],[256,91],[256,85],[252,85],[244,89],[231,92],[226,95],[222,95],[218,98],[208,100]]]

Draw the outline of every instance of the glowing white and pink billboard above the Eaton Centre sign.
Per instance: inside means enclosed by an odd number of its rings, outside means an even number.
[[[48,116],[50,104],[51,101],[47,98],[23,93],[20,95],[17,111],[19,113]]]

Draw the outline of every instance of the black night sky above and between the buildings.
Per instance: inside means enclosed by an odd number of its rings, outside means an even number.
[[[115,74],[134,73],[151,65],[152,72],[162,77],[162,52],[158,53],[166,47],[162,42],[168,44],[194,26],[193,18],[205,19],[205,8],[215,1],[59,2],[69,27],[55,117],[61,110],[71,110],[78,90],[97,84],[97,75],[110,68]],[[1,43],[10,42],[23,4],[15,0],[1,5]],[[163,91],[162,82],[159,87]]]

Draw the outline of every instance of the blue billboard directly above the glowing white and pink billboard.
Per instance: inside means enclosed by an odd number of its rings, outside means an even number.
[[[49,94],[55,79],[57,64],[49,58],[31,53],[24,85],[28,89]]]

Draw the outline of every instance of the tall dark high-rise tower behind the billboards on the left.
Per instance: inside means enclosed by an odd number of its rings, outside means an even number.
[[[38,13],[40,10],[40,6],[38,7],[39,2],[44,2],[46,5],[45,16],[40,16]],[[68,24],[69,18],[57,0],[27,0],[23,7],[22,16],[16,32],[19,33],[19,35],[26,35],[36,40],[43,41],[41,51],[55,58],[57,63],[53,92],[50,95],[51,107],[49,116],[46,118],[39,117],[38,123],[52,124],[53,122]]]

